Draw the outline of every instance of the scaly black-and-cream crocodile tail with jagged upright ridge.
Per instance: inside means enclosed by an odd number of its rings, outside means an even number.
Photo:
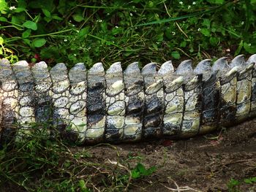
[[[0,60],[0,141],[20,140],[34,123],[78,145],[187,138],[256,117],[256,54],[127,66],[83,63],[51,69]]]

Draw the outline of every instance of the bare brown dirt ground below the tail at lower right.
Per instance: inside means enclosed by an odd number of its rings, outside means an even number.
[[[231,178],[242,181],[240,191],[256,191],[256,183],[243,182],[256,177],[256,120],[191,139],[114,147],[92,147],[90,153],[102,163],[139,156],[146,167],[157,166],[154,174],[133,182],[129,191],[228,191]]]

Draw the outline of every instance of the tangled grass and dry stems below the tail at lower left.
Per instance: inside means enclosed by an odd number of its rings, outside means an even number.
[[[135,180],[151,175],[156,167],[146,169],[137,161],[118,158],[118,161],[95,161],[90,147],[78,149],[55,135],[45,137],[47,126],[34,126],[30,137],[23,142],[9,142],[0,150],[0,188],[4,191],[124,191]],[[104,144],[102,144],[104,145]],[[69,147],[67,147],[69,146]],[[92,146],[97,147],[97,146]],[[103,157],[102,157],[103,158]]]

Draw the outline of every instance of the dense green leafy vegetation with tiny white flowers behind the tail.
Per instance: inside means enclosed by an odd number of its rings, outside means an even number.
[[[256,53],[255,0],[0,0],[0,57],[70,66]],[[228,52],[229,53],[229,52]]]

